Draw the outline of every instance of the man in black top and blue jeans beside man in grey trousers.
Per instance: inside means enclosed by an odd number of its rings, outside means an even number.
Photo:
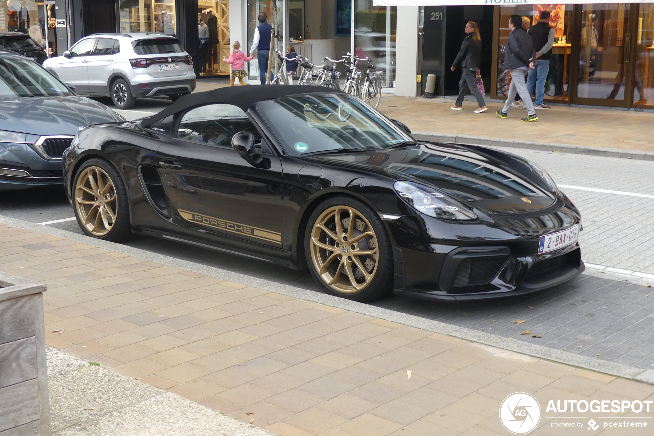
[[[549,73],[549,58],[552,55],[552,45],[554,44],[554,27],[549,25],[549,12],[543,10],[540,13],[540,21],[532,27],[529,27],[527,33],[531,35],[534,41],[534,50],[536,50],[536,68],[529,71],[527,76],[527,90],[531,94],[534,92],[534,83],[536,84],[536,101],[534,109],[549,109],[545,105],[545,80]]]

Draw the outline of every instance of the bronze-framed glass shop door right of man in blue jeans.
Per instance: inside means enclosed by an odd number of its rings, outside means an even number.
[[[574,103],[629,106],[632,86],[627,3],[581,5],[579,70]],[[640,84],[642,88],[642,82]]]

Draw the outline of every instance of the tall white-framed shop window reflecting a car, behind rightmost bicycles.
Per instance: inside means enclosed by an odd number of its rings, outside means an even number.
[[[370,59],[388,88],[395,87],[396,23],[397,7],[354,1],[354,54]]]

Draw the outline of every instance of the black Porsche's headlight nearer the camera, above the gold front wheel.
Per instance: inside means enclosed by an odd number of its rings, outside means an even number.
[[[393,185],[400,198],[423,214],[442,220],[476,220],[477,215],[426,186],[398,180]]]

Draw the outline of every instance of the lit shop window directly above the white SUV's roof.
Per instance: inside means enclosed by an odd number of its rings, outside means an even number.
[[[120,32],[175,35],[175,0],[120,0]]]

